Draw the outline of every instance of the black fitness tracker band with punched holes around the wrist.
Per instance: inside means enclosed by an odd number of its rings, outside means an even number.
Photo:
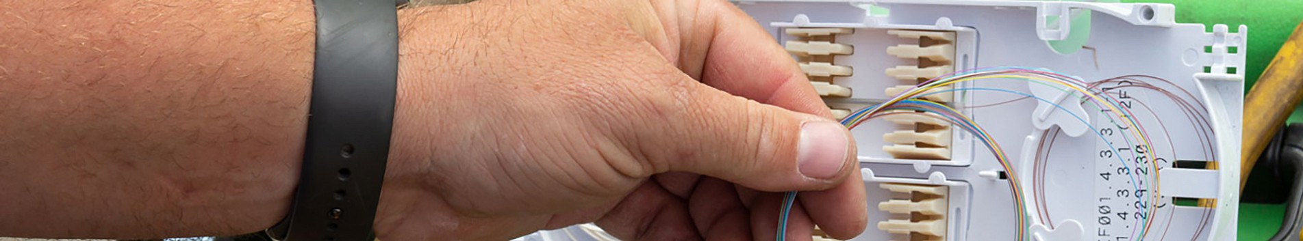
[[[315,0],[317,59],[304,167],[276,240],[371,237],[397,92],[395,0]]]

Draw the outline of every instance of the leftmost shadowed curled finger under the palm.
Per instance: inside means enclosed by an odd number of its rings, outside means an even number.
[[[644,182],[595,221],[620,240],[701,240],[688,206],[655,182]]]

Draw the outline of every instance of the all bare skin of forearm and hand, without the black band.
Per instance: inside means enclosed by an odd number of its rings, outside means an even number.
[[[138,1],[0,3],[0,218],[22,218],[0,236],[231,234],[288,210],[311,4]],[[399,31],[383,240],[771,240],[787,190],[788,238],[866,223],[848,133],[728,1],[480,0],[405,8]]]

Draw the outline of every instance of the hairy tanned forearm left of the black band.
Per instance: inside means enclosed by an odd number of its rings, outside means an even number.
[[[308,0],[0,1],[0,236],[231,234],[288,211]]]

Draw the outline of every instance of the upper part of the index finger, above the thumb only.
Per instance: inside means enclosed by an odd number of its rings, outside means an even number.
[[[681,35],[680,69],[734,95],[831,116],[805,73],[769,31],[727,1],[700,1],[694,7],[700,9],[692,12],[694,21],[683,21],[696,26],[680,30],[692,33]]]

